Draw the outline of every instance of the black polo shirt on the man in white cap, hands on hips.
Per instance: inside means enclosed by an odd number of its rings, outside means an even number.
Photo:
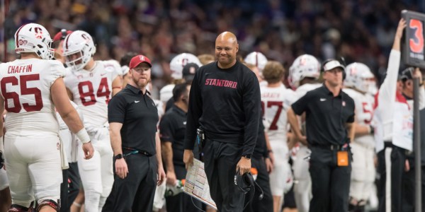
[[[354,100],[340,90],[334,95],[326,86],[307,92],[293,103],[295,114],[306,115],[307,142],[314,145],[342,145],[348,138],[345,124],[354,122]]]

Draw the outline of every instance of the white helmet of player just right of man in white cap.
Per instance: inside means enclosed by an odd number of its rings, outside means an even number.
[[[375,95],[373,93],[373,88],[376,88],[375,76],[365,64],[352,63],[346,67],[344,86]]]

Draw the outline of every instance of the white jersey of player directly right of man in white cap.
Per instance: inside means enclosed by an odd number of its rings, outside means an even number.
[[[343,91],[354,100],[354,104],[356,105],[356,124],[360,126],[370,126],[373,119],[373,104],[375,102],[373,96],[368,93],[360,93],[351,88],[344,88]],[[356,136],[354,142],[370,148],[375,147],[375,139],[371,134]]]

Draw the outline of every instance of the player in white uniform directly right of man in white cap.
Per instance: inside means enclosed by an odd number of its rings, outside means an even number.
[[[375,99],[368,93],[369,87],[375,86],[375,78],[365,64],[349,64],[344,86],[344,92],[356,104],[356,132],[354,142],[350,144],[353,153],[350,211],[364,211],[375,181],[375,140],[373,127],[370,126]]]

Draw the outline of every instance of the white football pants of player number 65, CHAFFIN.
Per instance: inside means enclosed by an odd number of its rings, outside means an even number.
[[[31,201],[60,199],[62,168],[58,136],[8,138],[4,140],[12,204],[29,207]]]

